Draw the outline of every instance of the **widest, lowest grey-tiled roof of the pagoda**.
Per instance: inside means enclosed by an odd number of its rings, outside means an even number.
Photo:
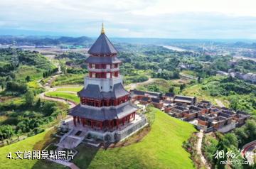
[[[69,111],[71,116],[80,116],[85,119],[92,119],[97,121],[105,121],[112,119],[122,119],[134,111],[137,111],[137,107],[134,107],[129,102],[121,104],[119,107],[103,107],[102,109],[97,109],[90,106],[81,106],[78,104]]]

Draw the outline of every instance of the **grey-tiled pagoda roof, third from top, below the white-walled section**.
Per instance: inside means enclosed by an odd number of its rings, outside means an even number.
[[[100,87],[97,84],[88,84],[86,88],[83,88],[78,92],[79,97],[87,97],[91,99],[111,99],[119,98],[129,94],[122,83],[114,84],[113,91],[100,92]]]

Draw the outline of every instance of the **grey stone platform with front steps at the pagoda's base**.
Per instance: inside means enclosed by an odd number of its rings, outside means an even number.
[[[77,123],[75,126],[73,124],[73,118],[69,118],[65,120],[60,126],[61,129],[69,130],[69,132],[60,139],[60,143],[58,145],[63,147],[75,147],[78,146],[78,144],[82,141],[88,141],[88,138],[90,138],[89,143],[92,143],[92,140],[102,142],[116,142],[131,136],[133,133],[146,126],[146,124],[146,117],[142,114],[135,114],[135,119],[133,121],[124,124],[124,126],[119,126],[118,129],[114,128],[112,130],[101,130],[98,128],[91,128],[90,126],[82,126],[82,123]],[[75,133],[78,133],[78,131],[80,131],[80,135],[75,136]],[[95,145],[98,144],[95,143]]]

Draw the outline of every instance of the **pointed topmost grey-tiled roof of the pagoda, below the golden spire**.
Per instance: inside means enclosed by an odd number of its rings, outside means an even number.
[[[105,35],[105,32],[102,32],[91,46],[88,53],[91,55],[108,55],[108,54],[115,54],[117,50],[114,48],[114,45],[110,42],[110,40]]]

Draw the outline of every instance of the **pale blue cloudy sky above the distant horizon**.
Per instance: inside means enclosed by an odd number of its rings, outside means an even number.
[[[256,39],[255,0],[1,0],[0,35]]]

